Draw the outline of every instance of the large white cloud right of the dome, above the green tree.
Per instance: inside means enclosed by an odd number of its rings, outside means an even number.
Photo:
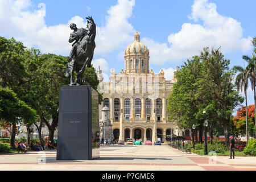
[[[168,36],[168,43],[157,43],[150,38],[142,39],[150,49],[151,63],[163,64],[199,54],[203,47],[220,47],[221,51],[248,51],[251,37],[243,38],[241,23],[217,13],[217,7],[208,0],[196,0],[189,18],[203,25],[183,23],[181,30]]]

